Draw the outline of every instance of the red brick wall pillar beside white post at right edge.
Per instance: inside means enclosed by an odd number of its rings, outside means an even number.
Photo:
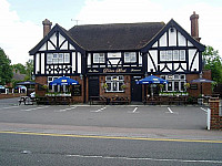
[[[219,113],[219,97],[210,98],[211,129],[222,129],[222,116]]]

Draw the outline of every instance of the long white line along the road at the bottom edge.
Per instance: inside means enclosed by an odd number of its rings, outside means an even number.
[[[176,163],[209,163],[222,164],[222,160],[204,160],[204,159],[174,159],[174,158],[143,158],[143,157],[114,157],[114,156],[90,156],[90,155],[67,155],[68,157],[81,158],[103,158],[103,159],[127,159],[127,160],[154,160],[154,162],[176,162]]]

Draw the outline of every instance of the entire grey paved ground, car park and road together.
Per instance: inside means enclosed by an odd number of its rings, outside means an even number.
[[[0,165],[222,165],[208,107],[0,101]]]

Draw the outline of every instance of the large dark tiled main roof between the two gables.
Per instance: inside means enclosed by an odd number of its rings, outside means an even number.
[[[163,22],[75,25],[69,34],[87,51],[139,50],[164,25]]]

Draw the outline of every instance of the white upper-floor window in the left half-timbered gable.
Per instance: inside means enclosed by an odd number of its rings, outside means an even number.
[[[48,53],[47,64],[70,63],[70,53]]]

